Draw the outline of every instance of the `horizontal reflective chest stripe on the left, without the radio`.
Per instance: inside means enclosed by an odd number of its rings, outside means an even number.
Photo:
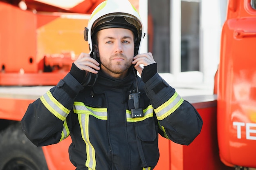
[[[107,108],[92,108],[85,106],[83,102],[74,102],[73,107],[74,113],[76,114],[88,114],[101,120],[108,120]]]

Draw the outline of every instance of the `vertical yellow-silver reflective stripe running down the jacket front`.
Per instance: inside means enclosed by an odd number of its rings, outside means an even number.
[[[90,115],[87,115],[87,114],[78,114],[78,120],[81,127],[81,135],[86,145],[87,159],[85,162],[85,166],[88,167],[88,170],[95,170],[96,169],[95,149],[92,146],[89,139],[89,117]]]

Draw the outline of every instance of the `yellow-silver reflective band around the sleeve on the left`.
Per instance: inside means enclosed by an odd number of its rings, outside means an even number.
[[[43,105],[58,119],[65,120],[70,110],[65,108],[60,102],[58,102],[50,91],[47,91],[43,96],[40,97]]]

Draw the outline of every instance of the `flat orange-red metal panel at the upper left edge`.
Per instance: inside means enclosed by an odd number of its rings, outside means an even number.
[[[31,62],[36,57],[36,15],[0,2],[0,25],[0,69],[37,71]]]

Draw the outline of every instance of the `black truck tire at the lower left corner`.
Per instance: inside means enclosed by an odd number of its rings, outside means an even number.
[[[27,139],[20,123],[0,132],[0,170],[48,170],[42,148]]]

